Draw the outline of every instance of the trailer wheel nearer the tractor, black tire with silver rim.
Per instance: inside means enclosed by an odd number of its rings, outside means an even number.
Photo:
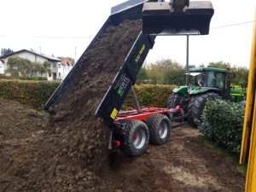
[[[149,141],[157,145],[167,143],[172,131],[171,122],[164,114],[153,114],[147,120]]]

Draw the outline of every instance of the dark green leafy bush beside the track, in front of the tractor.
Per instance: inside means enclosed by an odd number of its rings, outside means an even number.
[[[208,101],[199,129],[213,143],[231,153],[240,153],[244,108],[223,100]]]

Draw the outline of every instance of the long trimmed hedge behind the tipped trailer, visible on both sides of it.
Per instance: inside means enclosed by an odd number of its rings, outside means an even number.
[[[0,97],[16,100],[32,108],[42,108],[58,85],[55,81],[0,79]],[[142,106],[166,108],[167,98],[175,85],[146,84],[136,85],[134,88]],[[127,96],[124,107],[134,108],[131,93]]]

